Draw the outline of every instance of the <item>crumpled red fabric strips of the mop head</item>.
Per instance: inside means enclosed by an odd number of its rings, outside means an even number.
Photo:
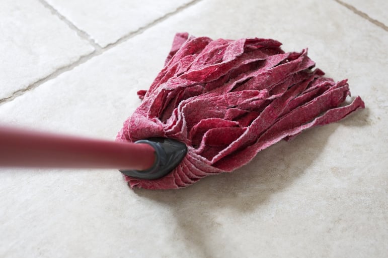
[[[312,70],[307,51],[284,53],[271,39],[211,40],[175,36],[165,67],[124,123],[119,141],[177,139],[188,153],[167,176],[132,188],[171,189],[231,172],[261,150],[307,128],[338,121],[364,107],[346,80]]]

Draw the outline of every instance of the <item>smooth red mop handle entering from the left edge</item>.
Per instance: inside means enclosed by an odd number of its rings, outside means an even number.
[[[145,170],[155,161],[148,144],[121,143],[0,126],[0,167]]]

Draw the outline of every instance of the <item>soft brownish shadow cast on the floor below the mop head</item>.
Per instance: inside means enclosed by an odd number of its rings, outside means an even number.
[[[233,173],[210,176],[184,189],[136,189],[135,193],[170,207],[177,221],[172,230],[185,238],[188,251],[216,257],[214,250],[221,240],[212,235],[216,237],[219,227],[226,226],[217,222],[217,212],[231,214],[233,220],[254,212],[305,173],[338,126],[367,126],[368,113],[363,110],[341,122],[307,130],[290,142],[281,141]],[[227,240],[222,239],[224,245]]]

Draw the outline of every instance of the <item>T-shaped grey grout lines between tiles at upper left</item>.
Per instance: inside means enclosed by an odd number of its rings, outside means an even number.
[[[114,47],[120,45],[121,43],[124,43],[125,41],[143,33],[144,31],[148,30],[149,28],[152,28],[153,26],[158,25],[159,23],[167,20],[168,18],[182,12],[183,10],[185,10],[185,9],[187,9],[187,8],[193,6],[201,1],[202,0],[193,0],[185,5],[182,5],[182,6],[178,7],[177,9],[175,9],[174,11],[165,14],[164,16],[146,24],[145,26],[140,27],[135,31],[129,32],[128,34],[124,35],[123,37],[121,37],[120,39],[115,41],[114,43],[108,44],[105,47],[101,47],[92,39],[92,37],[90,35],[88,35],[85,31],[77,28],[75,25],[73,25],[69,20],[67,20],[63,15],[61,15],[56,9],[54,9],[52,6],[50,6],[45,0],[39,0],[39,2],[41,2],[41,4],[43,4],[46,8],[48,8],[54,15],[58,16],[60,20],[62,20],[64,23],[66,23],[67,26],[69,26],[69,28],[71,30],[75,31],[77,33],[77,35],[79,35],[82,39],[87,40],[95,48],[95,51],[93,51],[90,54],[81,56],[79,59],[77,59],[75,62],[73,62],[69,65],[65,65],[65,66],[62,66],[62,67],[56,69],[54,72],[50,73],[46,77],[41,78],[41,79],[33,82],[32,84],[28,85],[26,88],[19,89],[19,90],[15,91],[11,96],[0,99],[0,105],[7,103],[9,101],[12,101],[17,97],[22,96],[24,93],[39,87],[41,84],[60,76],[62,73],[70,71],[73,68],[88,62],[90,59],[103,54],[104,52],[108,51],[109,49],[114,48]]]

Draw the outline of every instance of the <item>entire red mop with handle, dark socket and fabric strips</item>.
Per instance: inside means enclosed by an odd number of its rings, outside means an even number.
[[[131,188],[176,189],[234,171],[261,150],[364,108],[307,50],[272,39],[178,33],[116,142],[0,127],[0,166],[116,168]]]

